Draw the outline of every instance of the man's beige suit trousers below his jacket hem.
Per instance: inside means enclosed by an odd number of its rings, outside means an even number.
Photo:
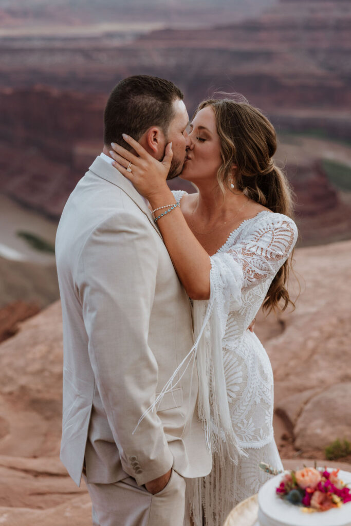
[[[183,526],[185,481],[176,471],[172,470],[166,487],[155,495],[132,477],[114,484],[86,485],[94,526]]]

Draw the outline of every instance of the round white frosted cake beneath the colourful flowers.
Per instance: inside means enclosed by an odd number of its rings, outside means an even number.
[[[347,471],[339,471],[338,477],[345,484],[351,483]],[[278,497],[276,488],[282,478],[282,474],[273,477],[259,490],[257,526],[351,526],[351,502],[328,511],[305,513],[302,507]]]

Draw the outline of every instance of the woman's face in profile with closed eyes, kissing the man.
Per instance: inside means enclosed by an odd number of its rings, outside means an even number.
[[[180,177],[195,185],[203,180],[216,181],[222,157],[213,109],[200,109],[189,126],[190,146]]]

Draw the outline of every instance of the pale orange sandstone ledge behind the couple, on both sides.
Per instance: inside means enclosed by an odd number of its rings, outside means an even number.
[[[322,459],[323,448],[336,438],[351,440],[350,256],[351,241],[297,249],[302,291],[296,310],[278,319],[260,315],[256,324],[272,361],[276,410],[286,424],[284,433],[277,426],[276,441],[283,458],[295,458],[286,462],[290,468],[306,462],[296,454]],[[296,289],[293,280],[293,297]],[[56,302],[0,345],[0,522],[5,526],[89,523],[86,490],[75,487],[58,460],[61,397],[62,321]]]

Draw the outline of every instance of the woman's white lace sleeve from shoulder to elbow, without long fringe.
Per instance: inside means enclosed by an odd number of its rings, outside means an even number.
[[[222,247],[210,257],[211,291],[223,329],[229,311],[242,307],[243,291],[263,280],[272,281],[289,257],[296,239],[297,228],[292,219],[268,214],[268,220],[265,216],[264,221],[237,244],[225,250]]]

